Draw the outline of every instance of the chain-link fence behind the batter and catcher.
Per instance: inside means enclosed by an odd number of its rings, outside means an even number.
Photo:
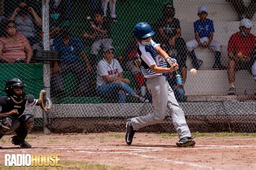
[[[175,72],[165,76],[190,130],[256,132],[255,1],[12,0],[0,8],[1,87],[18,77],[36,98],[51,91],[51,112],[26,109],[37,126],[124,131],[132,117],[154,112],[133,36],[134,25],[146,22],[178,61],[184,86]],[[60,61],[32,56],[42,50],[58,51]],[[140,131],[174,132],[171,115]]]

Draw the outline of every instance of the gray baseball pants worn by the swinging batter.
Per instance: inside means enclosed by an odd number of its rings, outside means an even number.
[[[190,130],[186,124],[183,110],[180,108],[172,88],[166,81],[166,77],[156,76],[147,78],[147,88],[152,94],[154,112],[146,116],[134,117],[131,119],[134,130],[139,130],[147,125],[157,124],[165,118],[166,108],[171,111],[172,123],[179,138],[191,137]]]

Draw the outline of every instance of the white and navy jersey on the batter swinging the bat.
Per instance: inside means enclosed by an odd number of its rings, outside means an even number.
[[[154,77],[158,75],[162,75],[162,73],[156,73],[150,67],[152,65],[157,65],[158,67],[167,67],[165,59],[158,54],[156,51],[156,46],[160,44],[156,44],[153,40],[150,40],[150,45],[144,46],[139,43],[138,46],[138,54],[142,62],[140,63],[140,69],[142,70],[142,74],[145,78]]]

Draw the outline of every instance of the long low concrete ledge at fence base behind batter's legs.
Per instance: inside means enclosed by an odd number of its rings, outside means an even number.
[[[255,102],[185,102],[180,103],[184,114],[189,116],[239,116],[252,115],[255,112]],[[51,111],[52,118],[71,117],[137,117],[154,111],[151,103],[96,103],[96,104],[54,104]],[[80,108],[77,110],[77,108]],[[118,108],[118,109],[117,109]],[[131,108],[136,108],[131,111]],[[113,111],[114,110],[114,111]],[[111,112],[111,114],[109,114]],[[72,114],[70,114],[72,112]],[[166,116],[171,112],[166,109]]]

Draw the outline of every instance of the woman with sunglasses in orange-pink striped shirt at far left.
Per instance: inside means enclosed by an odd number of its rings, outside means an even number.
[[[29,63],[32,48],[28,39],[16,31],[14,20],[4,20],[2,23],[3,37],[0,38],[0,60],[5,63]]]

